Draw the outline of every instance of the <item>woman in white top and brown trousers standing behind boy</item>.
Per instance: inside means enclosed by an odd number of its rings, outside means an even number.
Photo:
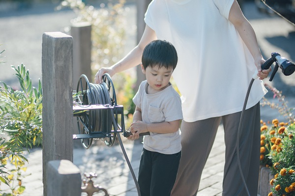
[[[110,68],[111,75],[140,64],[144,47],[165,39],[177,49],[173,78],[181,93],[182,155],[172,196],[196,195],[207,157],[222,119],[226,161],[223,195],[246,195],[236,157],[236,137],[247,87],[255,70],[260,79],[265,61],[255,32],[236,0],[153,0],[145,15],[146,29],[140,43]],[[257,195],[260,148],[259,101],[266,89],[255,80],[248,99],[240,141],[242,170],[251,195]],[[250,168],[251,165],[251,168]],[[251,170],[251,172],[250,172]]]

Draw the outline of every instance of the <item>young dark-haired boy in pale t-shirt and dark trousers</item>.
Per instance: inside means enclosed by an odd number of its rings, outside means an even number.
[[[128,139],[144,136],[138,183],[141,196],[170,196],[181,156],[181,100],[169,82],[177,65],[174,46],[162,40],[149,43],[142,55],[143,81],[133,98],[136,109]]]

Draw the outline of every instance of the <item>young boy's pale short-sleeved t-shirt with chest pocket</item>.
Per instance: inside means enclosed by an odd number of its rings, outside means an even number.
[[[147,80],[143,81],[133,98],[135,105],[142,110],[144,123],[161,123],[182,120],[181,99],[176,90],[170,86],[164,90],[148,95]],[[154,133],[144,136],[144,148],[162,154],[175,154],[181,150],[180,130],[174,133]]]

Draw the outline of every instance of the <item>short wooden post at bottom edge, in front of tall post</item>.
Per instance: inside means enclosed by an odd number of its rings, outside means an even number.
[[[69,160],[49,161],[47,196],[81,196],[80,170]]]

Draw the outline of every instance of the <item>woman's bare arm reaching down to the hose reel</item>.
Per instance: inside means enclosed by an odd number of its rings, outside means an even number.
[[[139,44],[132,49],[124,58],[122,58],[118,63],[109,67],[109,68],[101,68],[95,74],[95,83],[102,82],[102,75],[104,73],[109,73],[113,76],[115,73],[122,72],[129,68],[135,67],[141,63],[141,57],[143,54],[143,50],[148,45],[149,42],[156,40],[157,36],[153,29],[151,29],[148,25],[146,25],[143,36],[139,42]]]

